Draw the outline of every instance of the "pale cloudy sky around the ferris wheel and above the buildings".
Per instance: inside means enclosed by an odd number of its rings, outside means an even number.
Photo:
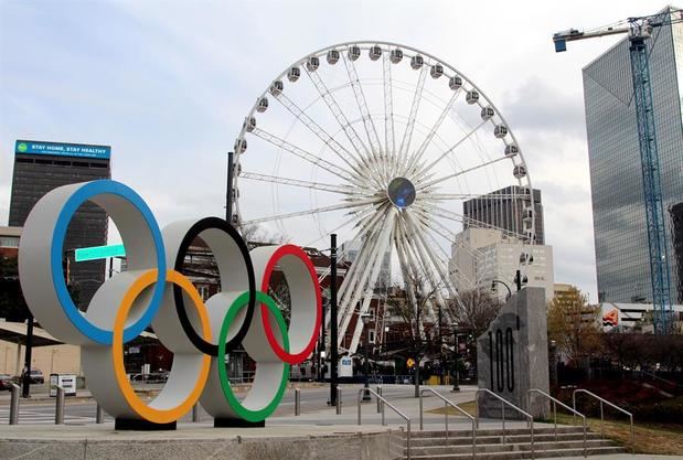
[[[327,45],[391,41],[442,58],[484,88],[542,190],[555,282],[596,301],[580,71],[619,38],[569,43],[562,54],[551,38],[663,7],[0,0],[0,224],[9,214],[15,139],[111,146],[113,178],[134,188],[161,225],[223,215],[225,152],[271,79]],[[249,200],[242,196],[241,205]]]

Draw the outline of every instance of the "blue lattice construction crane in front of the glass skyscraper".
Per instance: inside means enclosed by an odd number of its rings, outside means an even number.
[[[653,322],[654,331],[658,334],[665,334],[671,331],[671,280],[647,41],[652,36],[652,31],[655,28],[682,22],[682,11],[668,8],[661,13],[629,18],[611,26],[586,32],[569,29],[553,35],[555,52],[563,52],[567,50],[567,42],[570,41],[628,34],[650,249],[650,274],[654,306]]]

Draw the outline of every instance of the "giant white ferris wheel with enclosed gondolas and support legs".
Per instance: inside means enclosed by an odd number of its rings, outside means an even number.
[[[461,72],[397,43],[340,43],[292,63],[247,114],[234,164],[233,224],[313,247],[337,233],[353,252],[339,289],[339,345],[352,353],[363,328],[352,318],[387,278],[408,297],[458,299],[463,280],[449,260],[465,228],[535,239],[533,218],[503,227],[462,210],[472,199],[522,199],[533,212],[526,163],[500,111]]]

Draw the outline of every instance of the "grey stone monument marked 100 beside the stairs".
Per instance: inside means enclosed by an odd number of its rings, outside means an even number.
[[[479,388],[488,388],[534,418],[548,416],[548,400],[540,395],[527,402],[529,389],[548,393],[547,307],[543,288],[515,292],[489,329],[477,339]],[[479,414],[501,417],[501,402],[480,394]],[[523,418],[505,407],[505,418]]]

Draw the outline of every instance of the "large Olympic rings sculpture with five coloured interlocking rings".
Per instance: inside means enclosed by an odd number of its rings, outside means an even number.
[[[68,223],[86,201],[116,223],[128,270],[102,285],[83,313],[68,293],[62,255]],[[221,276],[221,291],[206,302],[181,274],[196,237],[213,253]],[[267,295],[276,266],[289,286],[289,327]],[[117,420],[174,424],[199,400],[215,419],[263,421],[281,400],[289,365],[311,354],[320,331],[320,286],[299,247],[249,252],[218,217],[174,222],[160,231],[145,201],[110,180],[61,186],[35,204],[22,231],[19,274],[40,324],[64,343],[81,345],[88,388]],[[161,393],[146,404],[127,378],[122,345],[150,325],[173,352],[173,365]],[[256,362],[243,400],[225,366],[226,354],[241,344]]]

